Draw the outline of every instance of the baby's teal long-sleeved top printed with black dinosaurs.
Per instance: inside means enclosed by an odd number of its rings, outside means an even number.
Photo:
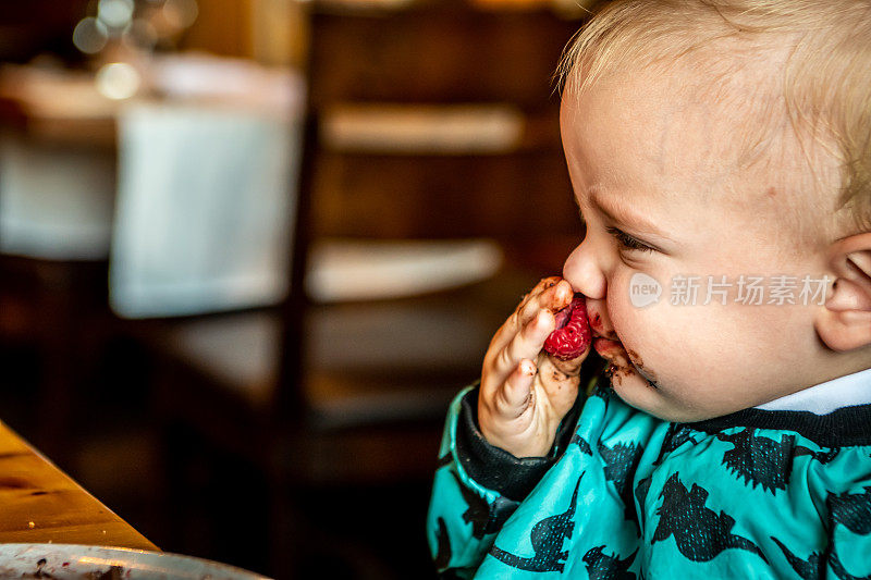
[[[871,578],[871,405],[674,423],[596,386],[506,497],[458,444],[475,395],[451,406],[427,521],[445,578]]]

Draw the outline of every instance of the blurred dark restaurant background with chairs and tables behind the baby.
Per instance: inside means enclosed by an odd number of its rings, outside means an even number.
[[[430,578],[451,398],[581,235],[581,0],[0,4],[0,420],[162,550]]]

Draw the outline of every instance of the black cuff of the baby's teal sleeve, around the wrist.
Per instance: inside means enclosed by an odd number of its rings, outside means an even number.
[[[483,437],[478,427],[478,388],[469,391],[461,404],[456,431],[456,453],[463,468],[484,488],[522,502],[566,448],[575,432],[584,398],[584,393],[578,392],[578,399],[563,419],[553,449],[547,457],[518,458],[490,445]]]

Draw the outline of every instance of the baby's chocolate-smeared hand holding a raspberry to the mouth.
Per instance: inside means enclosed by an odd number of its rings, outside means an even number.
[[[487,350],[478,397],[478,423],[491,445],[515,457],[540,457],[553,445],[575,403],[580,363],[542,350],[556,328],[554,314],[572,303],[568,282],[547,277],[524,297]]]

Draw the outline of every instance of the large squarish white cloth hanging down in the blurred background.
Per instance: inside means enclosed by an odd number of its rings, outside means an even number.
[[[122,110],[110,258],[119,314],[194,314],[284,296],[298,124],[298,115],[221,104]]]

